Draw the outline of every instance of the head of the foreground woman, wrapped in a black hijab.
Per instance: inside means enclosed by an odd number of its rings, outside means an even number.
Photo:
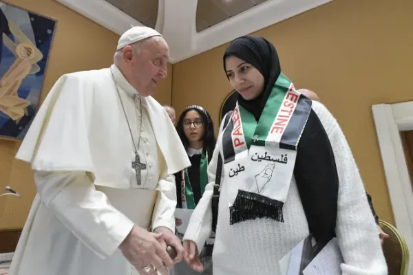
[[[281,68],[271,42],[257,36],[235,39],[224,53],[224,70],[231,86],[244,100],[260,97],[273,88]]]

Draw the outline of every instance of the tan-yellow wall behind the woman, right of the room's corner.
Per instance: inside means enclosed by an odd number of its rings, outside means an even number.
[[[413,1],[335,0],[255,33],[271,40],[295,87],[316,91],[343,128],[379,217],[392,208],[372,120],[372,104],[413,100]],[[231,92],[226,45],[173,65],[172,104],[200,104],[218,122]],[[218,124],[218,123],[215,123]],[[218,125],[216,125],[218,127]]]

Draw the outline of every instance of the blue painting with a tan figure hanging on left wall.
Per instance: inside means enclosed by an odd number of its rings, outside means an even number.
[[[39,109],[56,20],[0,1],[0,137],[23,140]]]

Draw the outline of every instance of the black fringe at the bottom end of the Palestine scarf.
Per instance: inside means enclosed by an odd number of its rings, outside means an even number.
[[[284,223],[283,206],[282,201],[238,190],[233,206],[229,208],[229,223],[232,225],[257,218],[269,218]]]

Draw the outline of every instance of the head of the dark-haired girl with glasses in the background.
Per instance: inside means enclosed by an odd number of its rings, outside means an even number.
[[[212,157],[215,146],[213,122],[209,113],[198,105],[191,105],[182,111],[176,124],[176,131],[185,148],[202,142]]]

